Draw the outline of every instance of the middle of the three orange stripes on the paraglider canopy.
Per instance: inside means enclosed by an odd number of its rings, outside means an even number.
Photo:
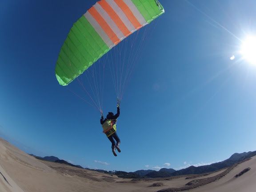
[[[106,2],[106,0],[101,0],[98,2],[100,6],[108,13],[110,18],[115,22],[120,31],[124,34],[124,36],[129,36],[132,32],[126,27],[124,22],[120,19],[120,17],[116,14],[115,10]]]

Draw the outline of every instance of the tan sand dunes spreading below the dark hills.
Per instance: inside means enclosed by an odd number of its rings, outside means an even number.
[[[251,170],[239,178],[244,168]],[[184,191],[194,180],[219,180],[191,192],[253,192],[256,189],[256,157],[228,170],[207,176],[176,176],[156,179],[123,179],[91,170],[38,160],[0,139],[0,192],[156,192]],[[189,179],[188,179],[188,178]],[[186,179],[187,178],[187,179]],[[254,182],[253,182],[254,181]],[[198,181],[199,183],[201,181]],[[197,184],[198,184],[197,182]],[[160,183],[159,187],[150,187]],[[204,184],[204,182],[202,182]],[[190,186],[193,188],[193,185]],[[175,190],[173,188],[176,188]]]

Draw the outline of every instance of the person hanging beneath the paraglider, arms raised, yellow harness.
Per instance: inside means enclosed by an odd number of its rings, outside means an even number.
[[[101,112],[100,124],[102,125],[103,132],[112,143],[112,152],[116,155],[116,149],[121,152],[119,145],[120,139],[116,133],[116,121],[120,115],[120,100],[117,100],[117,113],[114,115],[112,112],[108,112],[107,118],[104,119],[103,112]],[[116,140],[116,141],[115,141]]]

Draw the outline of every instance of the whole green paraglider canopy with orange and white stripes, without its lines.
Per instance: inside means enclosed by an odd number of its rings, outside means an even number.
[[[56,78],[68,85],[111,48],[164,13],[158,0],[100,0],[68,33],[56,63]]]

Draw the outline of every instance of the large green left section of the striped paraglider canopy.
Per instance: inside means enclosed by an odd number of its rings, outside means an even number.
[[[108,51],[107,44],[82,16],[71,28],[60,50],[55,68],[60,85],[68,85]]]

